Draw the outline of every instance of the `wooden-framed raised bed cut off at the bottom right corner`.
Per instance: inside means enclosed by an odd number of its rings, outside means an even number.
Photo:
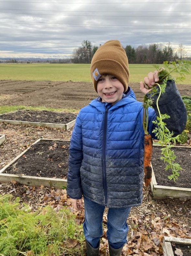
[[[177,253],[175,253],[177,252]],[[181,254],[182,252],[182,254]],[[163,238],[163,256],[191,255],[191,239],[164,236]]]

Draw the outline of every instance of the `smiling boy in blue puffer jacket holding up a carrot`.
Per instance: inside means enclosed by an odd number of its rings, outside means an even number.
[[[105,207],[109,255],[119,256],[127,242],[127,218],[131,207],[142,203],[144,131],[143,107],[136,101],[129,83],[129,66],[125,50],[118,40],[100,46],[91,62],[91,76],[99,97],[79,112],[73,129],[70,150],[67,193],[74,209],[82,207],[88,256],[99,255],[102,219]],[[149,73],[144,82],[148,88],[157,82],[158,72]],[[169,86],[174,85],[169,81]],[[140,82],[140,89],[147,93]],[[174,113],[169,127],[174,135],[186,123],[186,110],[177,89],[160,105],[165,113]],[[176,99],[174,101],[174,99]],[[174,102],[174,103],[173,103]],[[156,119],[149,109],[148,131]]]

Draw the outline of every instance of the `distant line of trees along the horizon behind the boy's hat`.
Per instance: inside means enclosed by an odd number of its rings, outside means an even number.
[[[73,50],[71,58],[2,58],[0,59],[0,63],[91,63],[92,57],[99,46],[93,45],[88,40],[84,40],[80,47]],[[191,60],[191,57],[186,57],[187,51],[183,44],[179,44],[176,51],[174,51],[170,42],[165,46],[162,44],[150,44],[149,46],[140,45],[137,48],[127,45],[124,49],[130,64],[162,64],[164,61]]]

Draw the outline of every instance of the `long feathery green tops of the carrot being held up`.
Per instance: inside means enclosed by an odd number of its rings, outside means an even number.
[[[175,163],[176,156],[174,155],[174,151],[171,150],[171,148],[174,146],[172,143],[175,143],[179,141],[179,136],[174,137],[174,133],[170,132],[169,129],[166,127],[165,120],[170,118],[167,114],[161,114],[160,108],[158,105],[158,101],[161,97],[161,94],[165,92],[166,83],[168,79],[173,79],[172,73],[178,74],[176,77],[177,80],[184,80],[185,75],[189,74],[189,68],[191,63],[189,61],[173,61],[168,62],[165,61],[164,67],[162,68],[159,65],[154,65],[156,70],[159,71],[159,82],[156,83],[157,87],[154,86],[152,88],[152,91],[150,91],[149,96],[144,97],[143,101],[143,128],[145,131],[145,134],[147,134],[147,128],[148,128],[148,108],[152,107],[152,97],[156,94],[158,94],[156,106],[158,110],[158,116],[153,123],[155,124],[155,129],[153,132],[155,133],[156,137],[158,138],[158,142],[163,146],[162,148],[162,156],[161,159],[163,159],[164,163],[166,164],[165,170],[172,170],[172,175],[169,175],[168,178],[170,180],[177,181],[179,177],[179,171],[182,169],[181,166],[178,163]],[[175,80],[175,79],[173,79]]]

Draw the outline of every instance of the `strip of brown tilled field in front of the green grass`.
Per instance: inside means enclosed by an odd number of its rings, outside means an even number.
[[[139,83],[129,83],[138,101],[143,100]],[[191,85],[177,85],[181,96],[191,97]],[[92,83],[52,81],[0,81],[0,106],[25,105],[81,109],[97,97]]]

